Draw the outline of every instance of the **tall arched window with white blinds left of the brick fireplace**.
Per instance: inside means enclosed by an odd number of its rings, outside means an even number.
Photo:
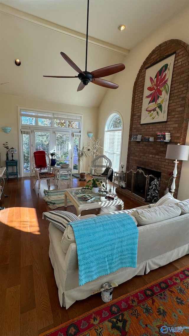
[[[112,113],[105,127],[104,154],[112,161],[114,171],[120,170],[121,134],[121,118],[117,113]]]

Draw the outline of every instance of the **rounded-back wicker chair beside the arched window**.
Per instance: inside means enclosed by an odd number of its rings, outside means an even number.
[[[91,162],[90,175],[93,177],[99,177],[99,179],[105,183],[105,186],[107,188],[108,178],[113,172],[111,166],[112,162],[106,155],[98,155]],[[108,174],[102,175],[106,168],[110,168]]]

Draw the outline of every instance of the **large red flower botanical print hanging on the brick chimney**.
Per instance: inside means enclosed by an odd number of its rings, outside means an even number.
[[[141,124],[167,120],[175,52],[146,68]]]

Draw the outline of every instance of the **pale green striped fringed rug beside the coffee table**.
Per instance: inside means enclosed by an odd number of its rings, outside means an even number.
[[[48,204],[48,207],[51,210],[64,207],[65,190],[66,189],[44,190],[44,201]],[[73,205],[69,199],[68,205]]]

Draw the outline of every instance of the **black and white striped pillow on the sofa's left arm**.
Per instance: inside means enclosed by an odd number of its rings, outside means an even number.
[[[67,223],[74,222],[80,218],[74,213],[68,211],[54,210],[43,212],[43,219],[49,220],[52,224],[58,227],[59,230],[65,231]]]

